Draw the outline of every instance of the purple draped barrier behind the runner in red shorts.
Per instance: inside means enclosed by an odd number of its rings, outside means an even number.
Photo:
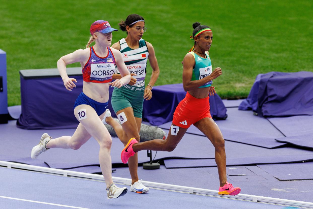
[[[143,119],[156,126],[172,121],[178,103],[186,96],[182,83],[155,86],[152,93],[151,100],[143,103]],[[226,107],[222,99],[215,94],[209,101],[212,118],[225,119]]]

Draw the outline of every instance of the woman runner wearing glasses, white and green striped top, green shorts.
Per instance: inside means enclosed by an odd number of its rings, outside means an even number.
[[[140,140],[139,132],[142,119],[143,100],[150,100],[152,88],[159,76],[159,66],[157,64],[153,46],[142,39],[146,32],[144,18],[138,14],[129,15],[125,21],[119,23],[120,29],[126,31],[127,37],[112,45],[112,48],[120,50],[127,69],[131,73],[129,84],[120,89],[115,88],[111,97],[111,104],[121,125],[113,120],[110,112],[107,111],[103,123],[111,125],[124,146],[130,138]],[[150,82],[145,85],[146,65],[149,59],[152,74]],[[119,69],[117,74],[113,74],[114,79],[120,79]],[[145,87],[146,86],[146,87]],[[138,156],[135,154],[128,160],[128,167],[131,174],[131,191],[145,193],[149,188],[141,184],[138,178]]]

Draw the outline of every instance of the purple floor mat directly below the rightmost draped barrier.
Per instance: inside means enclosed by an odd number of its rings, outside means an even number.
[[[299,115],[284,118],[268,118],[268,120],[286,137],[313,134],[313,116],[310,115]]]

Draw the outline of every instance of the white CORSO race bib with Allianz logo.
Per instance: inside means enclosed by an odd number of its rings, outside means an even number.
[[[105,81],[112,79],[115,65],[107,63],[90,64],[90,71],[90,80]]]

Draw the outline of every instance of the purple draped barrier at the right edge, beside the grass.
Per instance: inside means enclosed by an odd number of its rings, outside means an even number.
[[[313,73],[259,74],[239,106],[239,110],[251,109],[264,117],[313,115]]]

